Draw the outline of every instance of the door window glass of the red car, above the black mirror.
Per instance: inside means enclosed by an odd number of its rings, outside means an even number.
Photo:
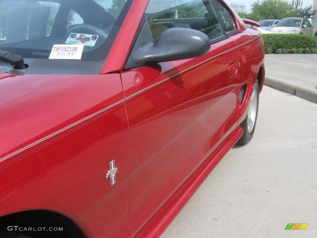
[[[217,11],[208,0],[150,0],[146,9],[153,41],[169,28],[190,28],[209,38],[223,36]]]

